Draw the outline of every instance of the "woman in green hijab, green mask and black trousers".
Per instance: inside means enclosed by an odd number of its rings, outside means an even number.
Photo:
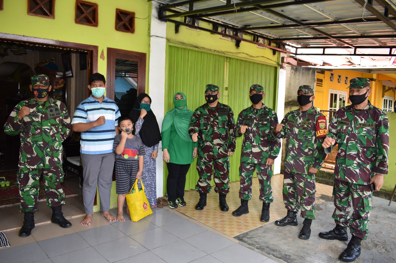
[[[162,121],[162,151],[168,167],[166,190],[170,208],[185,206],[184,187],[186,175],[198,154],[198,145],[188,135],[192,111],[187,108],[187,98],[182,92],[173,96],[175,107],[166,113]],[[177,203],[176,203],[177,202]]]

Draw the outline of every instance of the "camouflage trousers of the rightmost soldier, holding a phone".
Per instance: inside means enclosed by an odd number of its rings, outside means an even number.
[[[348,226],[350,233],[360,239],[366,239],[369,231],[369,216],[373,193],[369,185],[354,184],[350,182],[334,180],[334,212],[333,218],[336,224]],[[350,215],[350,207],[353,207]]]

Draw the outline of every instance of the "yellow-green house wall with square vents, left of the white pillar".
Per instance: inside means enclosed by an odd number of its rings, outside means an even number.
[[[55,19],[27,15],[26,0],[5,0],[0,11],[0,32],[53,39],[73,43],[96,45],[99,47],[98,72],[107,75],[107,47],[147,53],[146,83],[148,83],[148,62],[150,54],[150,14],[151,3],[147,0],[91,0],[98,6],[98,27],[74,23],[75,1],[55,1]],[[135,12],[135,34],[119,32],[114,29],[116,8]],[[138,19],[141,18],[141,19]],[[100,57],[105,53],[105,60]],[[86,88],[86,87],[84,87]],[[115,182],[113,182],[110,207],[117,205]],[[94,211],[99,211],[98,205]]]

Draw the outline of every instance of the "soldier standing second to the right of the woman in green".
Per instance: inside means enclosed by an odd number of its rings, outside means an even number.
[[[252,85],[249,98],[253,105],[241,111],[235,125],[236,137],[244,135],[239,167],[241,205],[232,212],[233,216],[249,213],[248,201],[251,199],[253,172],[256,170],[260,184],[260,201],[263,202],[261,222],[270,219],[270,203],[274,201],[271,189],[272,164],[280,151],[280,139],[272,133],[278,116],[273,109],[264,105],[264,88]]]

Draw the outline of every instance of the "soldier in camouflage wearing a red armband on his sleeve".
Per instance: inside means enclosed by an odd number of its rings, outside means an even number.
[[[327,134],[326,117],[313,107],[314,90],[299,86],[300,108],[286,114],[274,130],[276,137],[286,138],[283,201],[287,216],[275,221],[278,226],[298,225],[297,212],[305,218],[299,239],[309,239],[315,219],[315,173],[326,158],[322,142]]]

